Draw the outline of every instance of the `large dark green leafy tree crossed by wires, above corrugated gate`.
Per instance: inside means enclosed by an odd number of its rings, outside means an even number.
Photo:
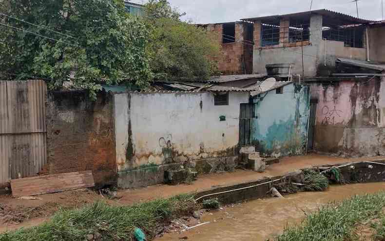
[[[6,4],[0,3],[0,13],[14,18],[0,16],[1,79],[44,78],[51,89],[72,80],[76,87],[90,90],[93,99],[99,83],[147,86],[152,79],[148,28],[125,13],[122,0],[6,0]]]

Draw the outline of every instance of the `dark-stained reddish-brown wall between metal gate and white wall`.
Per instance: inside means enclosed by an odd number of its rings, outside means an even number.
[[[113,97],[54,92],[47,99],[47,164],[41,174],[92,170],[96,184],[116,182]]]

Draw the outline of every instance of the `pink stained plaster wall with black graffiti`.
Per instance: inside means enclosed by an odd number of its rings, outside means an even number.
[[[348,157],[385,155],[384,78],[311,88],[319,100],[315,150]]]

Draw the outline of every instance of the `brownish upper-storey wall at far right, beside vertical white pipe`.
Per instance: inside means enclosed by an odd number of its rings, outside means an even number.
[[[374,25],[369,29],[370,60],[374,62],[385,62],[385,25]]]

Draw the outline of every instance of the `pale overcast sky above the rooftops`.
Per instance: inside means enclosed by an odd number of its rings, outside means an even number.
[[[145,0],[133,1],[145,2]],[[350,1],[313,0],[312,9],[326,8],[357,16],[356,3]],[[187,13],[185,20],[192,20],[194,23],[215,23],[308,11],[311,0],[169,0],[169,2],[181,12]],[[358,14],[362,19],[381,20],[381,0],[359,0]]]

